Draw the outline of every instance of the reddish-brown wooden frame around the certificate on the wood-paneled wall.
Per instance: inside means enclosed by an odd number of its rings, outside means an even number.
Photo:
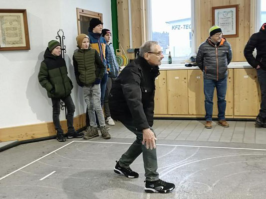
[[[236,4],[236,5],[225,5],[225,6],[216,6],[216,7],[212,7],[212,19],[213,19],[213,25],[218,25],[218,24],[215,24],[215,11],[216,10],[219,10],[219,9],[225,9],[225,8],[236,8],[236,12],[235,12],[235,20],[236,20],[236,34],[224,34],[223,32],[223,35],[225,35],[225,37],[238,37],[239,36],[239,5]],[[222,30],[223,30],[223,26],[219,25]]]

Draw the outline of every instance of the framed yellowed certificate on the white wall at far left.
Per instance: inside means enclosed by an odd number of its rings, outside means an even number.
[[[26,9],[0,9],[0,51],[30,50]]]

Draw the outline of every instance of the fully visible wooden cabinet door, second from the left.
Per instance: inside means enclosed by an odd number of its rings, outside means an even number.
[[[188,115],[188,71],[167,71],[168,114]]]

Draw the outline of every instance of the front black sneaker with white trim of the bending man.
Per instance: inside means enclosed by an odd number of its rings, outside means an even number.
[[[145,182],[145,181],[144,181]],[[146,181],[145,184],[145,192],[147,193],[168,193],[171,192],[173,189],[175,189],[175,185],[173,183],[167,183],[162,180],[157,180],[157,181]]]

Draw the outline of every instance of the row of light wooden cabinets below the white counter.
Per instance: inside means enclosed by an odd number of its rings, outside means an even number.
[[[155,80],[155,114],[161,117],[204,117],[203,73],[201,70],[160,71]],[[255,118],[260,109],[257,72],[252,68],[229,69],[226,117]],[[217,118],[217,93],[213,117]],[[156,116],[156,115],[155,115]]]

